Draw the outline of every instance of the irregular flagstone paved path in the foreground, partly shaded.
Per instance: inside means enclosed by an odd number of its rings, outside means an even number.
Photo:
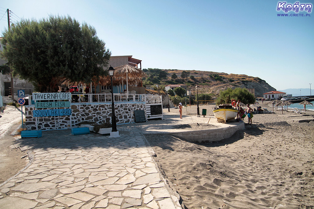
[[[117,138],[71,130],[19,138],[15,146],[34,158],[0,187],[0,208],[181,208],[140,130],[119,131]]]

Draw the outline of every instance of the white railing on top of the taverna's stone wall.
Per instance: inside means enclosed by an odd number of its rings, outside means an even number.
[[[112,102],[111,93],[99,94],[71,94],[72,103],[93,103],[93,102]],[[145,103],[162,103],[162,97],[150,94],[113,94],[114,102],[145,102]],[[31,96],[29,96],[31,101]]]

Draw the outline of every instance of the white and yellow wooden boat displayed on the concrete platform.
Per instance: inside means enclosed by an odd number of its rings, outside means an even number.
[[[221,104],[213,112],[219,123],[234,121],[238,114],[238,110],[233,108],[231,104]]]

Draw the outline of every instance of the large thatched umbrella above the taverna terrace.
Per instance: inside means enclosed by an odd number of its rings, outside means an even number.
[[[123,81],[126,81],[127,91],[129,91],[128,83],[137,84],[142,81],[142,78],[146,75],[141,69],[130,66],[122,65],[115,68],[115,81],[121,83],[123,86]]]

